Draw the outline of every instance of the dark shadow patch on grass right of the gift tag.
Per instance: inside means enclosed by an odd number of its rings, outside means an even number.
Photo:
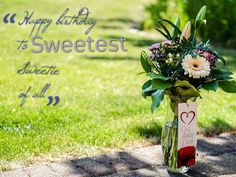
[[[232,130],[233,127],[230,124],[219,118],[215,119],[209,127],[203,126],[203,133],[205,136],[215,136]]]

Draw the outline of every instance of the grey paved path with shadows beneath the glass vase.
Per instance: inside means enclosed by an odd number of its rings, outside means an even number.
[[[0,177],[236,177],[236,135],[198,140],[197,165],[185,174],[168,173],[160,145],[120,151],[63,163],[32,165],[1,172]]]

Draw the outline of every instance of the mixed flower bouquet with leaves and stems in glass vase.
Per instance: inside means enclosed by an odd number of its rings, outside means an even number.
[[[165,164],[171,168],[180,166],[176,162],[178,103],[201,98],[202,89],[216,91],[220,87],[225,92],[236,93],[233,73],[223,67],[225,59],[211,48],[209,40],[198,42],[196,39],[199,27],[206,25],[205,14],[206,6],[203,6],[194,24],[187,22],[183,31],[179,29],[179,18],[174,23],[167,19],[157,20],[155,29],[166,40],[153,44],[149,55],[144,51],[141,53],[141,65],[149,77],[142,86],[142,95],[151,97],[152,112],[159,107],[164,96],[170,100],[173,117],[164,126],[162,148]],[[165,24],[171,27],[171,31]]]

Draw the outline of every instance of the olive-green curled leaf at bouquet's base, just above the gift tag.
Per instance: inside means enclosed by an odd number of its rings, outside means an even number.
[[[200,96],[199,91],[188,81],[176,81],[175,90],[183,99]]]

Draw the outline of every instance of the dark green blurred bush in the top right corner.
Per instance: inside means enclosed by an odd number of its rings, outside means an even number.
[[[223,47],[236,47],[236,1],[235,0],[186,0],[185,14],[194,18],[197,9],[205,5],[207,25],[201,28],[200,37],[211,39]]]

